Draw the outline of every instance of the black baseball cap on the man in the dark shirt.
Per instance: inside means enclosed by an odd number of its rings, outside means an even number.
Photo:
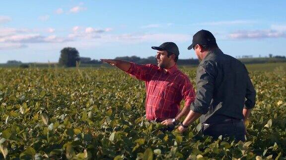
[[[192,49],[196,44],[216,44],[216,41],[214,35],[210,31],[201,30],[193,36],[193,43],[188,47],[188,49]]]

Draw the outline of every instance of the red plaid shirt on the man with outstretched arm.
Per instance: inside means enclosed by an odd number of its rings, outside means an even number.
[[[127,73],[145,81],[146,119],[166,120],[175,118],[184,98],[185,106],[195,100],[195,91],[188,76],[178,70],[177,66],[164,73],[162,68],[152,64],[138,65],[131,63]]]

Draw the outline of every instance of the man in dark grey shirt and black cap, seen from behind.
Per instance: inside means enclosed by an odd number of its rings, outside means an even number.
[[[192,48],[201,60],[197,69],[196,99],[178,130],[184,132],[190,123],[200,118],[204,135],[244,141],[244,121],[255,105],[256,96],[246,67],[224,54],[209,31],[197,32],[188,47]]]

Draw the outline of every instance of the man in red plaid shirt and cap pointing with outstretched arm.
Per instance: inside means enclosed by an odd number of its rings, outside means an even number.
[[[190,111],[190,104],[195,100],[195,91],[188,76],[177,68],[179,49],[175,43],[164,42],[151,48],[157,50],[157,66],[112,59],[101,61],[144,80],[146,119],[161,122],[168,126],[167,130],[173,130],[177,121]],[[180,111],[182,99],[185,100],[185,106]]]

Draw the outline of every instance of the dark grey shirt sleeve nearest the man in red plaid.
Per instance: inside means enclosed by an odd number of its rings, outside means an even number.
[[[211,63],[205,62],[198,67],[196,98],[190,107],[192,111],[201,114],[206,114],[209,111],[216,75],[217,72]]]

